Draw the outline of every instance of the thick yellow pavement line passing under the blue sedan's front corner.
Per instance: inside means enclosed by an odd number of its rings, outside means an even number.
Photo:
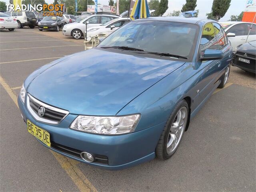
[[[13,90],[10,88],[10,86],[6,83],[6,81],[4,80],[4,78],[2,78],[1,75],[0,84],[4,87],[10,98],[19,108],[16,94],[13,92]],[[53,152],[52,150],[50,150],[50,152],[52,152],[53,156],[60,163],[62,168],[66,171],[68,176],[70,176],[71,180],[74,182],[74,184],[76,184],[76,186],[81,192],[97,192],[96,188],[90,183],[90,181],[78,168],[78,161],[66,158],[65,156]]]

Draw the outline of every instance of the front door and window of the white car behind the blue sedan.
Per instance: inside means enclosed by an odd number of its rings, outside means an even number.
[[[228,37],[228,39],[231,42],[233,51],[236,51],[236,47],[240,44],[244,44],[246,41],[246,37],[248,35],[248,32],[246,34],[246,28],[247,28],[248,24],[246,23],[239,23],[239,24],[235,24],[234,26],[230,27],[226,33],[234,33],[236,34],[236,36],[234,37]]]

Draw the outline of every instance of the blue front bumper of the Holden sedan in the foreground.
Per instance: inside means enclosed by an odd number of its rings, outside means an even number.
[[[156,144],[165,125],[165,122],[163,122],[145,130],[118,136],[88,134],[69,128],[71,122],[77,116],[75,114],[68,114],[58,125],[46,124],[33,118],[20,97],[18,97],[18,104],[25,122],[29,119],[33,124],[50,133],[51,142],[54,144],[50,148],[51,150],[80,162],[110,170],[128,168],[154,159]],[[61,146],[76,152],[82,151],[98,156],[106,156],[108,162],[107,164],[86,162],[79,158],[79,155],[58,148]]]

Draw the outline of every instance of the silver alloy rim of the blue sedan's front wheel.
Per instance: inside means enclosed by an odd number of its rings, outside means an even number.
[[[166,152],[169,155],[172,155],[180,144],[180,140],[186,128],[187,120],[188,109],[183,106],[180,108],[180,110],[178,110],[170,128],[166,144]]]

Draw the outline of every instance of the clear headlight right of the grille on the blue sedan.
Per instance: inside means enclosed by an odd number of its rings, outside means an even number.
[[[78,116],[71,129],[96,134],[124,134],[134,131],[140,114],[128,116]]]

